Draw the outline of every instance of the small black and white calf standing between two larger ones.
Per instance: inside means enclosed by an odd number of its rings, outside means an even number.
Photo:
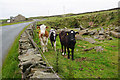
[[[53,48],[53,44],[54,44],[55,51],[56,51],[56,37],[57,36],[58,36],[58,34],[56,34],[56,31],[54,29],[51,29],[50,33],[49,33],[49,38],[50,38],[52,48]]]

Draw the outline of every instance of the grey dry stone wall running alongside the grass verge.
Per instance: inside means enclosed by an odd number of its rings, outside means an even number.
[[[34,37],[33,29],[35,23],[31,24],[25,32],[21,35],[19,40],[19,56],[20,61],[19,68],[21,69],[22,78],[38,79],[38,78],[54,78],[59,77],[52,72],[51,68],[48,67],[46,62],[43,60],[39,50],[36,48],[32,38]]]

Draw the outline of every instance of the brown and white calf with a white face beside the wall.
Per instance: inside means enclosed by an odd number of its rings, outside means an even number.
[[[43,50],[43,53],[45,51],[47,52],[48,51],[48,49],[47,49],[47,43],[48,43],[49,33],[46,30],[46,28],[48,28],[48,27],[45,26],[44,24],[42,24],[42,25],[37,25],[37,28],[40,29],[39,30],[39,39],[40,39],[40,42],[41,42],[41,48]]]

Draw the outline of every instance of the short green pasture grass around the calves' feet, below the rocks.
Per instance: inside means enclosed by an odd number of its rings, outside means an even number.
[[[37,32],[37,30],[35,32]],[[41,47],[37,33],[35,34],[34,41],[39,45],[39,47]],[[59,37],[57,37],[56,42],[57,49],[61,50]],[[83,51],[83,49],[94,46],[102,46],[104,48],[103,52],[96,52],[94,49],[91,51]],[[56,70],[57,52],[51,48],[50,40],[48,41],[48,49],[49,51],[45,52],[44,55],[48,59],[49,63],[54,67],[54,70]],[[103,42],[98,41],[96,44],[77,40],[75,45],[74,61],[67,59],[67,56],[63,57],[60,52],[58,58],[58,74],[65,78],[118,78],[117,38],[114,38],[114,40],[105,40]]]

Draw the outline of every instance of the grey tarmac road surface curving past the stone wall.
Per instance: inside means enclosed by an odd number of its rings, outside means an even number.
[[[2,66],[2,62],[14,42],[15,37],[30,23],[32,22],[0,26],[0,66]]]

